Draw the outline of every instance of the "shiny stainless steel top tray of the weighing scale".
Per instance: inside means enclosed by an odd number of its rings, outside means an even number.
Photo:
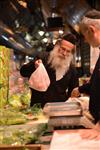
[[[82,108],[78,102],[55,102],[47,103],[43,112],[45,115],[52,116],[76,116],[82,115]]]

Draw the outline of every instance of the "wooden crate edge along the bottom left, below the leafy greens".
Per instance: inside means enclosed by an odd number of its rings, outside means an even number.
[[[41,150],[40,144],[30,144],[21,146],[2,145],[0,150]]]

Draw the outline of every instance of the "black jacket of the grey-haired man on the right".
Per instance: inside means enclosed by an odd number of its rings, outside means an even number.
[[[79,91],[90,95],[89,109],[97,122],[100,120],[100,56],[91,76],[90,82],[79,87]]]

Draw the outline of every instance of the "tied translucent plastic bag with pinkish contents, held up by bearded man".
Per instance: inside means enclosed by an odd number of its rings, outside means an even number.
[[[48,73],[40,63],[38,68],[32,73],[29,79],[29,86],[37,91],[46,91],[50,85]]]

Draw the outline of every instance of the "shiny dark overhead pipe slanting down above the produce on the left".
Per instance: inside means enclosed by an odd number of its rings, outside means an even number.
[[[32,53],[32,46],[24,38],[14,33],[2,21],[0,21],[0,44],[27,55]]]

